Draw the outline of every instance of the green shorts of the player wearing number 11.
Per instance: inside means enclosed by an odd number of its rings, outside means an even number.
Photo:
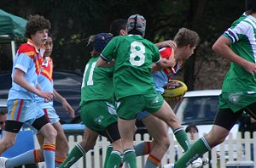
[[[113,122],[117,122],[116,110],[113,104],[100,100],[83,104],[80,115],[84,125],[98,133],[105,130]]]

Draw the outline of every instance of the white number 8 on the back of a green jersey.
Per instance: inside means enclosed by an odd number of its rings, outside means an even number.
[[[140,50],[137,50],[140,48]],[[135,66],[141,66],[145,62],[145,46],[142,42],[131,42],[130,63]]]

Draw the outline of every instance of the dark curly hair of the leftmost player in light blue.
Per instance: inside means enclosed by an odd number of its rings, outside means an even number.
[[[37,31],[42,31],[44,29],[50,29],[49,20],[46,20],[44,16],[30,15],[26,23],[25,36],[31,38],[32,35],[36,34]]]

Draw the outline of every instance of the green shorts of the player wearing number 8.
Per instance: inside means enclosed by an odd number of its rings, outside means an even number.
[[[135,119],[137,114],[146,110],[154,113],[161,108],[164,98],[160,93],[140,94],[119,99],[118,116],[124,120]]]

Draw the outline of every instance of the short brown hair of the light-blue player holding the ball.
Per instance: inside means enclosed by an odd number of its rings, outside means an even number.
[[[195,31],[183,27],[177,31],[173,41],[177,43],[178,48],[183,48],[187,45],[190,45],[190,47],[193,48],[199,44],[200,37]]]

